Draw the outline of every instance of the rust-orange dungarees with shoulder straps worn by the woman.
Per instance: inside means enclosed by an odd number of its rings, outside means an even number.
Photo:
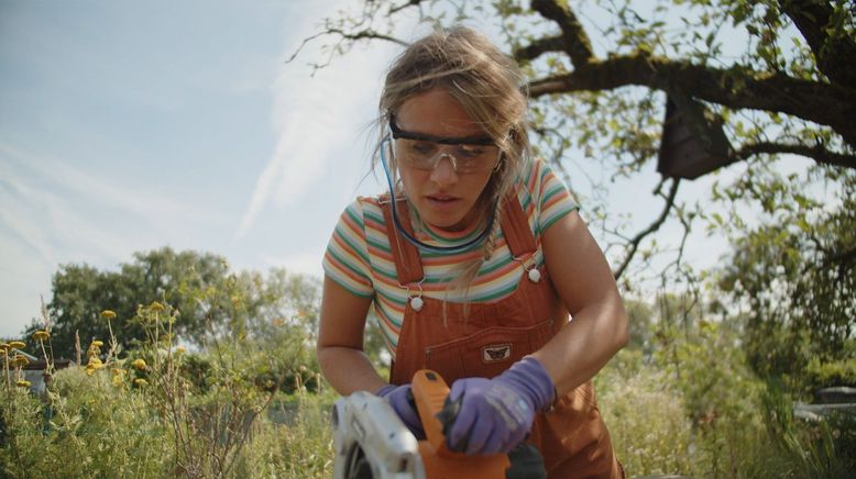
[[[388,198],[380,203],[398,282],[411,297],[420,297],[419,252],[397,234]],[[397,202],[396,211],[403,227],[413,234],[407,202]],[[501,225],[512,255],[522,265],[534,263],[536,241],[514,194],[504,202]],[[417,311],[408,301],[389,382],[408,383],[422,368],[438,371],[449,385],[467,377],[492,378],[541,348],[569,320],[546,268],[539,272],[536,280],[524,274],[509,297],[470,303],[465,310],[460,303],[443,305],[442,300],[420,298]],[[591,381],[559,398],[550,411],[538,413],[527,441],[540,450],[551,479],[623,477]]]

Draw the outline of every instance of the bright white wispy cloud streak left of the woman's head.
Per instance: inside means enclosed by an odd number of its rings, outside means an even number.
[[[351,141],[371,120],[373,111],[365,110],[365,100],[376,99],[388,58],[389,48],[353,51],[315,77],[305,65],[281,66],[272,85],[271,122],[276,146],[256,179],[235,238],[253,227],[265,207],[292,207],[318,187],[336,159],[334,152],[342,151],[343,142]],[[362,147],[356,149],[362,152]]]

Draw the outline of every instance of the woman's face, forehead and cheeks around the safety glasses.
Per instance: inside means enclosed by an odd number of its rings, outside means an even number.
[[[395,113],[400,130],[442,138],[485,136],[463,108],[445,90],[432,88],[415,94]],[[404,189],[422,221],[434,227],[460,231],[479,221],[476,201],[493,170],[461,174],[442,158],[432,170],[413,168],[397,161]]]

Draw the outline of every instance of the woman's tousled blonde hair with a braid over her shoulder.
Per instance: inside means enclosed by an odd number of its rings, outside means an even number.
[[[410,97],[432,88],[451,96],[496,143],[502,155],[497,168],[482,191],[475,208],[490,214],[494,208],[493,227],[484,242],[483,255],[468,261],[454,281],[456,289],[469,289],[482,264],[491,258],[500,232],[503,199],[514,187],[529,153],[525,124],[526,94],[523,76],[516,64],[483,34],[465,27],[436,30],[410,44],[392,64],[381,94],[377,126],[382,146],[389,115],[395,114]],[[377,155],[375,155],[376,157]],[[375,158],[376,160],[376,158]],[[389,165],[397,188],[396,165]]]

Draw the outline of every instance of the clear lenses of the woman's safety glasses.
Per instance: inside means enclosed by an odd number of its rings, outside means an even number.
[[[489,171],[500,160],[495,145],[441,145],[424,140],[397,138],[393,141],[393,153],[403,164],[426,170],[436,168],[440,158],[448,155],[460,174]]]

